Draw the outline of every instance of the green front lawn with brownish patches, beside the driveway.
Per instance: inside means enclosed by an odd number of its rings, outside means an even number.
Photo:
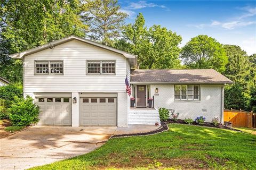
[[[110,139],[89,154],[31,169],[256,169],[256,135],[185,124],[169,128]]]

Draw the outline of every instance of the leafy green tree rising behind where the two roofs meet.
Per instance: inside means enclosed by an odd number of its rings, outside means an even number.
[[[172,69],[180,67],[179,44],[181,36],[171,30],[153,25],[147,29],[145,19],[140,13],[134,24],[128,24],[123,32],[124,38],[115,47],[138,55],[141,69]]]

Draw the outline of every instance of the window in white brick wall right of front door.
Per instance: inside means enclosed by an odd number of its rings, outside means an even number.
[[[174,100],[200,100],[200,86],[174,85]]]

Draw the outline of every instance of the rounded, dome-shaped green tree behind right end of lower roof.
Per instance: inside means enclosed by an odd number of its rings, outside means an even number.
[[[192,38],[182,48],[180,56],[189,68],[215,69],[220,73],[225,71],[225,65],[228,63],[222,45],[206,35]]]

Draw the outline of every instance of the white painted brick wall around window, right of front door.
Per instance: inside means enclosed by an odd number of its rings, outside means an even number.
[[[155,94],[155,88],[159,90],[159,96],[155,96],[156,108],[165,107],[175,109],[179,112],[179,118],[193,118],[204,116],[206,122],[211,122],[213,117],[221,119],[221,86],[220,85],[201,85],[201,101],[174,101],[173,84],[153,84],[151,94]],[[202,112],[206,109],[207,112]]]

